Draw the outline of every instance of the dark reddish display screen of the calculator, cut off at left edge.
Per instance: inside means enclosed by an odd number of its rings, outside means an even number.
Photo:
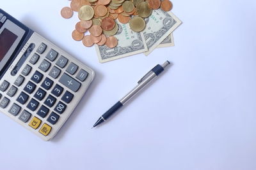
[[[10,50],[15,40],[18,38],[17,35],[13,34],[8,29],[4,29],[0,34],[0,62],[6,55],[6,53]]]

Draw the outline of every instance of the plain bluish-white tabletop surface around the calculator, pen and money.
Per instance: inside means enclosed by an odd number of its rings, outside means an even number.
[[[256,169],[256,3],[173,0],[175,47],[100,64],[71,38],[65,0],[1,0],[1,8],[95,70],[52,141],[0,114],[0,169]],[[165,60],[173,66],[109,122],[97,118]]]

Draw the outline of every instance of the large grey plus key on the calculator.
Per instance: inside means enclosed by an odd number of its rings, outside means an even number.
[[[81,87],[81,83],[74,80],[74,78],[68,76],[68,74],[64,73],[60,77],[60,83],[68,87],[68,89],[72,90],[73,92],[77,92],[77,90]]]

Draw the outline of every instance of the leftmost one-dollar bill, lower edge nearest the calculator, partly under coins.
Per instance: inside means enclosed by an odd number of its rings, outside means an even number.
[[[118,32],[115,34],[118,45],[115,48],[108,48],[106,45],[95,45],[100,62],[120,59],[129,55],[147,52],[143,32],[134,32],[130,29],[129,24],[122,24],[116,20]]]

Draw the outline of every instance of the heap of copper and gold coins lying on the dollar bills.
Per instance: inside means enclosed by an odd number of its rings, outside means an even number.
[[[170,11],[172,6],[169,0],[72,0],[70,7],[62,8],[61,16],[70,18],[73,11],[78,12],[80,21],[72,32],[74,40],[83,40],[84,46],[97,44],[113,48],[118,43],[114,37],[118,31],[116,19],[123,24],[129,23],[132,31],[140,32],[146,26],[143,18],[149,17],[152,10]],[[90,35],[84,36],[86,31]]]

